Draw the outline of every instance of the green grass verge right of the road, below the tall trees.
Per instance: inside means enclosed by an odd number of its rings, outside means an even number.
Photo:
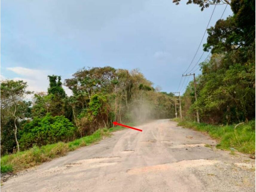
[[[208,133],[213,139],[217,139],[219,149],[235,150],[254,155],[255,154],[255,120],[241,124],[234,129],[235,125],[210,125],[180,119],[172,119],[178,122],[179,126],[192,128]]]

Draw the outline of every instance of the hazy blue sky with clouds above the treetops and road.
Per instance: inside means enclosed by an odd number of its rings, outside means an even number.
[[[217,5],[210,26],[225,6]],[[66,79],[82,67],[111,66],[138,68],[162,91],[177,91],[213,7],[201,12],[171,0],[1,0],[1,79],[23,79],[30,90],[46,91],[49,74]],[[231,14],[228,6],[223,18]]]

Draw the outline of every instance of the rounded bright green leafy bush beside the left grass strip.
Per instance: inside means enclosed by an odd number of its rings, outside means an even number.
[[[34,144],[42,146],[59,141],[68,142],[75,139],[76,128],[64,116],[51,116],[47,113],[43,118],[35,118],[24,125],[20,146],[22,149]]]

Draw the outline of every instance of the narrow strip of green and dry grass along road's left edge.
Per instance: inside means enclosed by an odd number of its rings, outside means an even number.
[[[133,124],[128,123],[128,125],[132,126]],[[39,165],[43,162],[50,161],[51,159],[64,156],[69,151],[96,143],[102,138],[110,136],[111,132],[121,129],[123,129],[123,127],[120,126],[115,126],[109,129],[98,129],[92,135],[85,136],[68,143],[58,142],[55,144],[44,145],[42,147],[33,146],[33,148],[25,151],[2,156],[1,173],[21,171],[23,169]]]

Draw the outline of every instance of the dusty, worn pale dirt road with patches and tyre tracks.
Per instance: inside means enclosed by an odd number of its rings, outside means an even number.
[[[209,147],[202,133],[158,120],[44,163],[1,191],[255,191],[255,160]]]

